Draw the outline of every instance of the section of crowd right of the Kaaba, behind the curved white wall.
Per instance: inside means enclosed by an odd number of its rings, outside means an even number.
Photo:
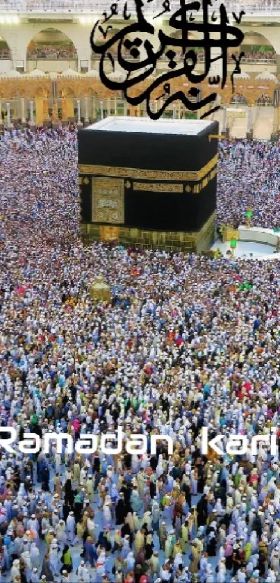
[[[280,143],[237,140],[220,143],[217,223],[280,227]],[[230,196],[229,196],[230,193]]]

